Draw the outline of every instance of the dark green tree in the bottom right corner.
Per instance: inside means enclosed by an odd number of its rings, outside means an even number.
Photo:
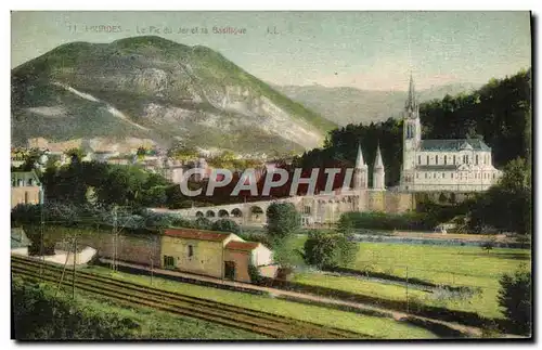
[[[499,290],[499,306],[511,322],[509,332],[529,335],[531,322],[531,273],[526,269],[516,271],[513,275],[504,274]]]

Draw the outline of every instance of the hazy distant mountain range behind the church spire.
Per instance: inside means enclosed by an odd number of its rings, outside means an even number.
[[[420,101],[442,99],[479,88],[475,83],[450,83],[418,91]],[[328,120],[345,126],[348,124],[369,124],[389,117],[399,118],[406,100],[404,91],[360,90],[356,88],[327,88],[313,86],[273,86],[294,101],[320,113]]]

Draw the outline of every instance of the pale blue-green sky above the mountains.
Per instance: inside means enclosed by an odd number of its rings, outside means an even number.
[[[90,29],[99,25],[120,31]],[[412,70],[424,89],[483,83],[531,65],[528,12],[13,12],[11,66],[66,42],[111,42],[150,26],[279,85],[404,90]],[[164,27],[199,29],[164,34]]]

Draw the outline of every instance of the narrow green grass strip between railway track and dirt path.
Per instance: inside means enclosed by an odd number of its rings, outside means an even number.
[[[126,278],[127,281],[150,285],[151,277],[122,272],[112,272],[106,268],[88,267],[85,271],[102,275]],[[255,296],[246,293],[230,291],[211,287],[153,278],[153,287],[177,291],[183,295],[219,301],[247,309],[271,312],[301,321],[313,322],[326,326],[360,332],[378,338],[388,339],[429,339],[435,334],[390,319],[361,315],[323,307],[302,304],[286,300],[273,299],[268,296]]]

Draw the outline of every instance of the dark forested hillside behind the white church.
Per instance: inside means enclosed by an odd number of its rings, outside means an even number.
[[[493,164],[502,169],[516,157],[530,157],[531,69],[504,79],[491,79],[472,93],[423,103],[420,115],[423,139],[482,138],[492,147]],[[304,168],[321,167],[343,160],[353,166],[357,144],[361,143],[365,163],[372,165],[379,142],[386,168],[386,185],[399,182],[402,163],[402,121],[348,125],[327,135],[324,148],[306,152],[296,159]]]

